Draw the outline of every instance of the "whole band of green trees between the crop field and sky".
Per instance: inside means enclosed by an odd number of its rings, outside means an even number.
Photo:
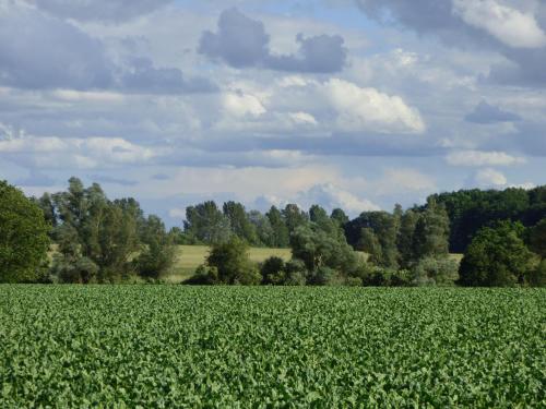
[[[186,209],[167,230],[134,199],[109,200],[71,178],[68,190],[25,197],[0,185],[0,281],[120,282],[161,279],[176,244],[211,252],[187,284],[542,285],[546,187],[435,194],[393,212],[213,201]],[[248,260],[248,246],[289,248],[293,258]],[[54,250],[51,250],[54,249]],[[459,263],[452,253],[463,253]],[[183,256],[183,255],[182,255]]]

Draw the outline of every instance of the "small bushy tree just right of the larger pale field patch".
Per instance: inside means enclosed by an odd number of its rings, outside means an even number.
[[[260,284],[261,276],[249,258],[248,244],[236,236],[213,244],[206,264],[217,269],[222,284]]]

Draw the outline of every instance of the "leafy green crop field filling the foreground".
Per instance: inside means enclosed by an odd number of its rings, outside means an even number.
[[[0,286],[0,407],[545,407],[546,290]]]

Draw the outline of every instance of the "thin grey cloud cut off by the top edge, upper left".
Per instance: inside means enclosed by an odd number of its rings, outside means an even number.
[[[173,0],[26,0],[50,14],[79,21],[118,22],[147,14]]]

